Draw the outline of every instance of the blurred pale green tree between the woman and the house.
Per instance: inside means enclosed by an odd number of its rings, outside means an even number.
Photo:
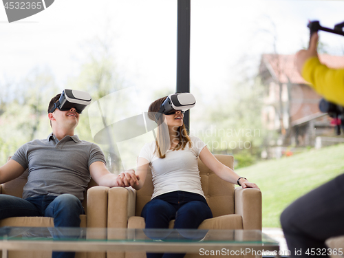
[[[202,118],[194,118],[200,121],[193,125],[200,128],[195,135],[206,142],[212,153],[235,155],[241,160],[239,166],[252,164],[267,137],[261,125],[262,93],[258,79],[223,89],[213,105],[202,105]]]

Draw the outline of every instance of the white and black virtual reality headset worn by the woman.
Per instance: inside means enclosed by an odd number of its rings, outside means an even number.
[[[195,97],[191,93],[170,94],[160,106],[158,114],[155,116],[155,118],[158,120],[161,114],[169,115],[176,110],[180,110],[182,113],[184,113],[186,110],[195,107],[195,104]]]

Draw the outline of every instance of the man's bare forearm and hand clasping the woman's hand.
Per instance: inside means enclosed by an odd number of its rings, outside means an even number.
[[[132,169],[115,175],[107,170],[103,162],[96,161],[89,166],[89,173],[94,181],[100,186],[134,186],[138,184],[138,178]]]

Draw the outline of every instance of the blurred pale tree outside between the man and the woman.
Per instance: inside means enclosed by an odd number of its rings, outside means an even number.
[[[72,89],[80,89],[92,96],[93,101],[116,92],[126,87],[125,79],[119,74],[114,56],[111,54],[111,41],[103,41],[99,38],[89,43],[91,50],[87,61],[81,65],[78,76],[71,78],[67,85]],[[94,142],[91,129],[89,127],[88,110],[83,111],[83,118],[80,119],[76,129],[78,136],[90,142]],[[104,117],[105,125],[108,126],[107,118]],[[118,173],[122,171],[120,155],[116,144],[109,135],[109,144],[104,146],[107,168],[109,171]]]

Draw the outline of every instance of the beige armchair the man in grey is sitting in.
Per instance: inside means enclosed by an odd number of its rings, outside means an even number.
[[[0,194],[21,197],[23,186],[27,182],[28,171],[23,175],[5,184],[0,184]],[[85,215],[80,215],[80,227],[106,228],[107,227],[107,197],[109,188],[97,186],[94,180],[89,182],[87,191],[84,194],[83,207]],[[25,226],[25,227],[53,227],[52,217],[9,217],[0,220],[0,226]],[[105,236],[106,237],[106,236]],[[76,258],[85,257],[105,257],[105,252],[77,252]],[[9,258],[50,258],[51,252],[42,251],[10,251]]]

